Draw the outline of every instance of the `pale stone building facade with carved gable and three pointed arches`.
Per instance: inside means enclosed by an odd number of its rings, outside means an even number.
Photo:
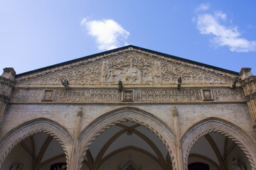
[[[0,77],[0,169],[256,170],[256,77],[132,45]]]

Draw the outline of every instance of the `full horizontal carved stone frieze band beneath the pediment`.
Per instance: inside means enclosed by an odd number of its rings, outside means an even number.
[[[126,89],[132,91],[131,103],[198,103],[212,102],[245,102],[245,95],[240,88],[213,88],[211,99],[204,89]],[[11,102],[24,103],[122,103],[122,93],[118,89],[16,89],[11,96]]]

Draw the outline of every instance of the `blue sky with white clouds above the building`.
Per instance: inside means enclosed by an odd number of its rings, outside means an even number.
[[[256,1],[1,0],[0,69],[136,45],[256,74]]]

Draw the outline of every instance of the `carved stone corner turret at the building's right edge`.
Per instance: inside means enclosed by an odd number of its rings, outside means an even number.
[[[252,115],[253,129],[256,131],[256,77],[252,74],[250,68],[241,69],[240,85],[245,93],[245,100]]]

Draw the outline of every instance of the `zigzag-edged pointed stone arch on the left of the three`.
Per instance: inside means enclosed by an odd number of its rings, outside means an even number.
[[[65,152],[65,157],[67,159],[67,164],[69,164],[69,155],[71,152],[71,147],[73,143],[73,137],[70,132],[63,128],[58,123],[53,120],[46,118],[38,118],[36,120],[30,120],[26,123],[18,125],[10,132],[8,132],[0,140],[0,169],[4,164],[4,161],[8,154],[19,142],[24,140],[26,137],[35,135],[39,132],[45,132],[48,135],[53,136],[63,147]]]

